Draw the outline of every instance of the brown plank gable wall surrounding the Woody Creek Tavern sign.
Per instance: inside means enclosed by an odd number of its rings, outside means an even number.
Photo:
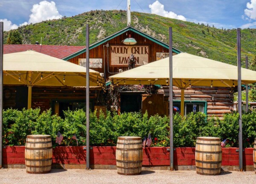
[[[129,34],[129,31],[127,32]],[[140,34],[130,32],[131,37],[135,38],[137,41],[136,45],[133,46],[143,46],[148,45],[149,46],[149,52],[148,52],[148,62],[156,61],[156,53],[157,52],[164,52],[169,53],[169,49],[164,48],[163,46],[146,39],[145,37],[141,36]],[[125,66],[111,66],[111,52],[110,52],[110,46],[111,45],[122,45],[122,46],[129,46],[122,43],[122,40],[125,40],[125,38],[128,38],[126,33],[123,33],[119,36],[114,37],[112,40],[109,40],[108,42],[105,42],[102,45],[99,45],[95,48],[90,49],[90,58],[102,58],[102,68],[91,68],[95,71],[98,71],[100,73],[104,73],[106,77],[106,81],[108,81],[108,77],[112,76],[116,73],[119,73],[119,69],[122,69],[123,71],[128,70],[128,65]],[[107,43],[109,44],[109,48],[106,47]],[[131,46],[131,45],[130,45]],[[173,55],[176,53],[173,52]],[[131,53],[128,53],[127,56],[129,57]],[[136,54],[134,54],[136,57]],[[79,56],[73,57],[69,59],[68,61],[79,64],[79,58],[86,58],[86,52],[80,54]]]

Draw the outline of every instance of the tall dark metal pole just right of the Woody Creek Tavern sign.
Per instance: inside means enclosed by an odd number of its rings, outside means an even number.
[[[172,27],[169,28],[169,74],[170,170],[173,171]]]

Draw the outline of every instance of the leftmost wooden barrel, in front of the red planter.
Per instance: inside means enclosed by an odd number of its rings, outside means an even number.
[[[49,135],[28,135],[25,147],[26,172],[49,173],[52,167],[52,139]]]

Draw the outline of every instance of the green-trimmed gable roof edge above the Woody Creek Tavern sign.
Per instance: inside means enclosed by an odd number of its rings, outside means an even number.
[[[119,36],[120,34],[125,33],[126,31],[133,31],[134,33],[137,33],[137,34],[139,34],[139,35],[141,35],[141,36],[147,38],[148,40],[151,40],[152,42],[155,42],[155,43],[157,43],[157,44],[163,46],[164,48],[169,49],[169,45],[168,45],[168,44],[166,44],[166,43],[164,43],[164,42],[162,42],[162,41],[160,41],[160,40],[157,40],[156,38],[151,37],[151,36],[148,35],[148,34],[143,33],[142,31],[140,31],[140,30],[138,30],[138,29],[132,27],[131,25],[128,26],[128,27],[126,27],[126,28],[124,28],[124,29],[122,29],[121,31],[116,32],[115,34],[112,34],[111,36],[108,36],[108,37],[104,38],[103,40],[100,40],[99,42],[93,43],[92,45],[89,46],[89,49],[95,48],[95,47],[97,47],[97,46],[99,46],[99,45],[101,45],[101,44],[107,42],[108,40],[111,40],[111,39],[113,39],[114,37],[117,37],[117,36]],[[176,54],[179,54],[179,53],[182,52],[182,51],[179,51],[179,50],[176,49],[176,48],[172,48],[172,51],[175,52]],[[73,57],[76,57],[76,56],[78,56],[79,54],[82,54],[82,53],[84,53],[84,52],[86,52],[86,48],[83,48],[82,50],[77,51],[76,53],[73,53],[73,54],[71,54],[71,55],[69,55],[69,56],[67,56],[67,57],[65,57],[65,58],[63,58],[63,59],[67,61],[68,59],[71,59],[71,58],[73,58]]]

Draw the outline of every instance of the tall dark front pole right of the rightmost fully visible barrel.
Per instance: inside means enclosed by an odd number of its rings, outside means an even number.
[[[241,95],[241,29],[237,28],[238,113],[239,113],[239,170],[243,171],[242,95]]]

